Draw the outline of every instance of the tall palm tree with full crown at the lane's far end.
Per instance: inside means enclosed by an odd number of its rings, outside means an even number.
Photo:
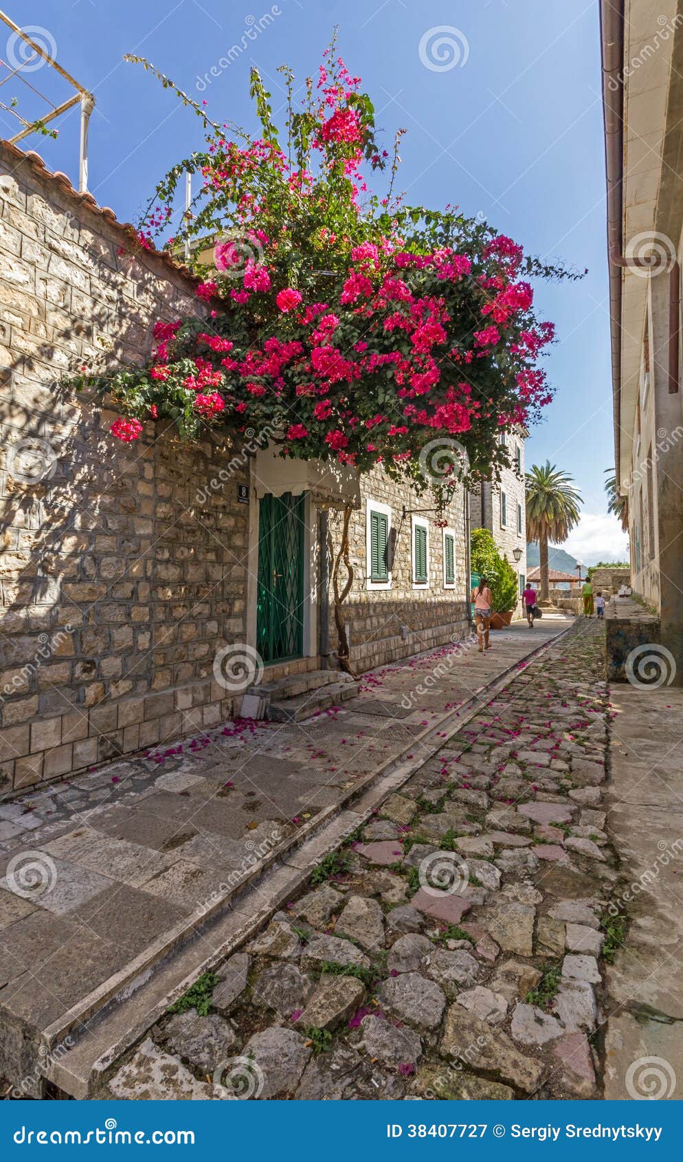
[[[540,595],[548,600],[548,540],[559,545],[578,524],[581,493],[571,486],[574,479],[554,464],[534,464],[526,473],[526,535],[538,540],[540,555]]]

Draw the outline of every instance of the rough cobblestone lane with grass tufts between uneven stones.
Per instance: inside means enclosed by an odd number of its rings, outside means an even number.
[[[577,621],[196,982],[109,1093],[599,1097],[619,940],[603,674],[603,627]]]

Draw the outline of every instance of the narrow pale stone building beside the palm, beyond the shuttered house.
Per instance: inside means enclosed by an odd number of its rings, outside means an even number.
[[[526,432],[516,429],[505,432],[504,439],[510,466],[501,472],[497,482],[487,481],[470,494],[470,523],[473,529],[488,529],[498,552],[506,557],[517,573],[519,596],[526,583],[526,503],[524,440]],[[519,551],[519,560],[515,552]],[[518,611],[522,603],[518,602]]]

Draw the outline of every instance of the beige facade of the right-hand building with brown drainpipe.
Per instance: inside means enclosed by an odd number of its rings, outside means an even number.
[[[602,16],[616,479],[631,584],[660,616],[681,686],[683,12],[632,0]]]

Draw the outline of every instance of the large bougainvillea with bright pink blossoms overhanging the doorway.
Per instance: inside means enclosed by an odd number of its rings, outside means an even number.
[[[394,194],[402,130],[381,149],[335,44],[300,106],[282,72],[283,136],[252,71],[254,138],[157,73],[200,116],[206,149],[159,184],[141,239],[168,231],[185,173],[199,174],[190,215],[163,244],[189,237],[208,317],[159,321],[148,366],[84,382],[112,393],[118,439],[148,419],[171,419],[185,439],[274,426],[283,457],[381,465],[429,485],[443,508],[463,462],[495,476],[501,428],[529,426],[549,402],[538,360],[553,327],[534,314],[530,279],[568,272],[455,209],[405,206]],[[431,467],[434,447],[453,456]]]

